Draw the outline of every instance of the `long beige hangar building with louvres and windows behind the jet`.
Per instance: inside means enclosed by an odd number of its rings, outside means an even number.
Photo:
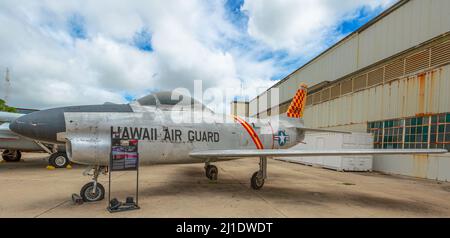
[[[400,0],[251,100],[249,115],[284,113],[302,82],[308,127],[371,132],[375,148],[450,150],[450,1]],[[450,154],[379,156],[373,169],[450,181]]]

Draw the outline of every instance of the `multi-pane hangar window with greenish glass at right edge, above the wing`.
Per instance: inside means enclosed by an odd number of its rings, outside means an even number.
[[[376,149],[436,149],[450,151],[450,113],[368,122]]]

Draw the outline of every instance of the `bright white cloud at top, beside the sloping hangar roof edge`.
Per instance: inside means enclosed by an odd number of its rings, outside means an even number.
[[[315,54],[335,27],[354,17],[363,6],[385,8],[395,0],[246,0],[242,9],[249,16],[248,32],[273,49],[292,54]]]

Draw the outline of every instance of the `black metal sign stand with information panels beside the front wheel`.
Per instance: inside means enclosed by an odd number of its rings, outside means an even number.
[[[109,161],[109,189],[108,207],[109,212],[123,212],[139,209],[139,153],[138,140],[116,137],[111,128],[111,154]],[[112,173],[116,171],[136,171],[136,201],[133,197],[127,197],[125,202],[116,198],[111,200]]]

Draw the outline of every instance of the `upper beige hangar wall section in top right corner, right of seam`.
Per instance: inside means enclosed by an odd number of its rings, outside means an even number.
[[[450,1],[412,0],[359,34],[358,69],[450,31]]]

